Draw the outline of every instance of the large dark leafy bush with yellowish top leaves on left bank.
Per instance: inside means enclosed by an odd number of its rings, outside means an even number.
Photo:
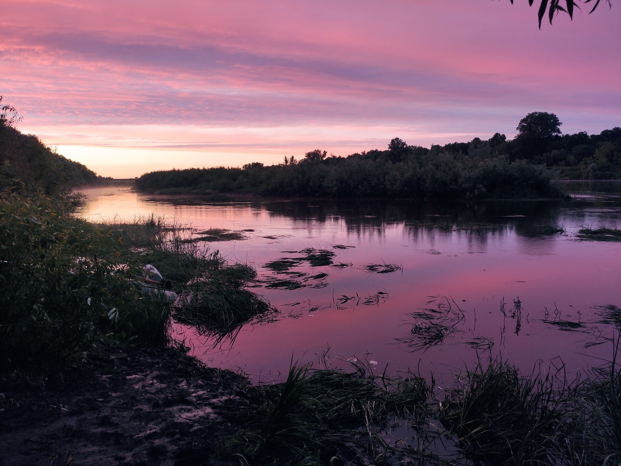
[[[166,339],[168,309],[145,298],[141,258],[112,234],[65,214],[66,198],[4,180],[0,193],[1,372],[62,370],[98,334]],[[9,183],[11,181],[11,183]]]

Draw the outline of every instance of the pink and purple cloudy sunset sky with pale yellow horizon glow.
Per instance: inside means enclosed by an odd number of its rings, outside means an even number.
[[[527,0],[2,0],[0,94],[117,178],[510,137],[531,111],[599,133],[621,126],[621,4],[589,5],[538,30]]]

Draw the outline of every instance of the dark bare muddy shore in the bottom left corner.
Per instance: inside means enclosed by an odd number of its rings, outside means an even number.
[[[0,464],[238,464],[214,447],[248,406],[246,378],[169,347],[98,349],[71,380],[0,389]]]

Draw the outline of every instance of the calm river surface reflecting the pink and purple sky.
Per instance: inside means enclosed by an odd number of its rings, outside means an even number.
[[[525,372],[540,363],[565,363],[573,372],[612,355],[607,339],[617,329],[605,314],[606,306],[621,307],[621,243],[581,241],[574,234],[584,224],[619,227],[621,183],[571,182],[564,188],[573,201],[435,205],[334,200],[178,204],[112,187],[84,191],[89,201],[81,214],[99,221],[153,212],[197,229],[253,229],[246,240],[209,246],[230,260],[252,263],[265,280],[274,278],[263,267],[266,262],[297,257],[283,251],[330,249],[335,262],[352,264],[296,267],[295,272],[309,274],[305,278],[327,274],[303,282],[299,290],[253,288],[281,316],[243,327],[233,344],[214,348],[209,338],[176,326],[193,354],[210,365],[268,381],[286,372],[292,358],[317,362],[329,350],[338,367],[348,358],[366,359],[391,375],[433,373],[443,386],[490,353]],[[494,227],[446,231],[428,225],[477,222]],[[543,224],[562,224],[566,232],[537,235]],[[383,263],[402,270],[363,269]]]

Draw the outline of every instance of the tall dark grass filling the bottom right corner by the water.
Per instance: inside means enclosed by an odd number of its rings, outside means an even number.
[[[609,363],[569,381],[564,367],[524,377],[479,360],[440,404],[440,421],[466,457],[490,465],[621,462],[619,340]]]

